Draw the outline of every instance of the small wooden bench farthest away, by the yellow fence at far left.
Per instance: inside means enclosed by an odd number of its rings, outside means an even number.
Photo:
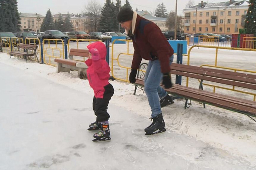
[[[37,45],[31,45],[31,44],[19,44],[18,45],[18,51],[11,51],[9,52],[9,54],[11,54],[11,56],[21,56],[24,57],[26,59],[26,63],[27,63],[27,59],[29,59],[29,56],[35,56],[37,61],[39,62],[37,55],[36,55],[36,50],[38,48]],[[21,50],[23,49],[23,50]],[[10,56],[10,58],[11,58]]]

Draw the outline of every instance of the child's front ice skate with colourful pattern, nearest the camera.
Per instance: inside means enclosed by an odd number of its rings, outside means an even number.
[[[95,133],[93,135],[95,139],[93,139],[93,142],[100,142],[100,141],[106,141],[110,140],[110,130],[109,130],[109,124],[108,123],[101,123],[100,124],[100,131],[98,133]]]

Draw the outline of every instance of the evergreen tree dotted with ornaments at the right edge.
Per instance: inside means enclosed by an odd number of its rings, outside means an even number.
[[[245,19],[246,33],[254,34],[256,37],[256,0],[250,0]]]

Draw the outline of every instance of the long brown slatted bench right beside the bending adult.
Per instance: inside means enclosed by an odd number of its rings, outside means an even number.
[[[185,98],[185,108],[189,107],[191,100],[193,100],[203,103],[204,107],[205,104],[209,104],[239,112],[249,117],[256,117],[256,101],[242,99],[239,96],[228,96],[203,90],[204,80],[246,90],[256,90],[256,75],[175,63],[170,68],[171,74],[200,80],[198,89],[177,84],[165,89],[169,94]],[[144,80],[136,79],[135,85],[144,86]],[[190,103],[188,103],[188,100],[190,100]]]

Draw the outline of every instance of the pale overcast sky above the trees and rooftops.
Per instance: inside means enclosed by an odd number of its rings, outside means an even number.
[[[84,6],[88,4],[91,0],[17,0],[18,2],[18,11],[22,13],[38,13],[45,16],[48,8],[50,9],[52,15],[57,13],[66,14],[67,11],[70,14],[77,14],[83,11]],[[96,0],[102,6],[106,0]],[[178,0],[178,15],[183,15],[183,9],[189,0]],[[223,2],[229,0],[204,0],[204,2]],[[116,3],[116,0],[113,0]],[[124,4],[125,0],[121,0],[121,3]],[[133,7],[133,10],[138,8],[139,11],[155,11],[158,4],[163,3],[168,12],[175,11],[175,2],[176,0],[129,0],[130,4]],[[194,0],[195,5],[200,3],[201,0]]]

